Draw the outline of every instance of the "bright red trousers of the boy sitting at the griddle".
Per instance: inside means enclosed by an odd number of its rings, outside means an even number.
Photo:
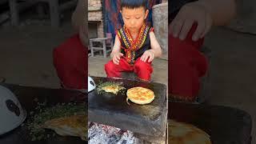
[[[130,65],[126,62],[125,58],[120,58],[119,65],[114,64],[112,60],[106,63],[105,71],[107,77],[120,78],[121,72],[134,71],[138,75],[138,78],[144,81],[150,81],[150,75],[153,72],[151,62],[143,62],[140,58],[134,62],[134,65]]]

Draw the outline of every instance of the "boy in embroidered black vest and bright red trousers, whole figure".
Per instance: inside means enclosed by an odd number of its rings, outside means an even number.
[[[124,26],[117,30],[112,60],[106,63],[107,77],[121,77],[121,72],[134,71],[138,79],[150,81],[153,72],[151,62],[162,54],[153,27],[145,19],[149,13],[147,0],[121,0]]]

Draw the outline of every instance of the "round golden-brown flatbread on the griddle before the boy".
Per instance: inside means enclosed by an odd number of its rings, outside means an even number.
[[[154,100],[154,92],[150,89],[146,89],[140,86],[130,88],[129,90],[127,90],[126,94],[127,94],[127,98],[126,98],[127,102],[128,102],[128,99],[130,99],[131,102],[134,102],[140,105],[149,104]]]

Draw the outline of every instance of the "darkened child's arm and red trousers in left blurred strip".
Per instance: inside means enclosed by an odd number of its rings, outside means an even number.
[[[85,1],[79,0],[72,15],[72,23],[77,34],[56,47],[53,52],[54,67],[62,86],[66,89],[87,88],[87,34],[84,6]]]

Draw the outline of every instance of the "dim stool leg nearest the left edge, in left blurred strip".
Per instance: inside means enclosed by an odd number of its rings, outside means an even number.
[[[13,26],[18,26],[18,2],[17,0],[9,0],[10,6],[10,22]]]

